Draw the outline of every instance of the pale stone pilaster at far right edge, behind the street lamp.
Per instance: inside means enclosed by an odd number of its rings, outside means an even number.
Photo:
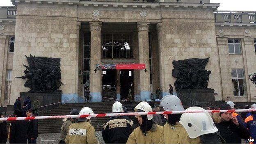
[[[254,39],[253,38],[244,38],[244,42],[245,42],[245,52],[243,50],[244,55],[246,55],[246,57],[244,58],[244,62],[245,62],[245,82],[247,85],[247,96],[248,96],[248,101],[255,101],[256,97],[255,93],[256,93],[256,89],[255,89],[255,84],[253,84],[251,82],[251,80],[249,80],[248,77],[248,73],[251,72],[256,72],[256,55],[254,53]]]

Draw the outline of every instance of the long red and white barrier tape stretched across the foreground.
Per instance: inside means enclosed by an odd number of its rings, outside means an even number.
[[[111,117],[127,115],[146,115],[146,114],[183,114],[183,113],[202,113],[202,112],[253,112],[256,109],[243,110],[206,110],[206,111],[165,111],[165,112],[128,112],[128,113],[110,113],[110,114],[83,114],[83,115],[61,115],[61,116],[40,116],[40,117],[7,117],[0,118],[0,121],[30,120],[30,119],[57,119],[57,118],[84,118],[84,117]]]

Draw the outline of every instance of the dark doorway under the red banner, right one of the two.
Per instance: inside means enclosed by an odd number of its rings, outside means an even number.
[[[121,98],[124,98],[124,99],[127,98],[129,89],[132,89],[132,96],[134,96],[133,70],[120,70],[120,85],[121,85],[121,91],[120,91]]]

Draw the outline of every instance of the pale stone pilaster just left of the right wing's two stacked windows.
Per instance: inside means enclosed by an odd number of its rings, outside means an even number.
[[[219,50],[219,66],[222,81],[222,96],[223,100],[231,101],[234,98],[233,95],[233,85],[231,80],[231,65],[230,56],[228,49],[228,39],[227,38],[217,38],[217,45]]]

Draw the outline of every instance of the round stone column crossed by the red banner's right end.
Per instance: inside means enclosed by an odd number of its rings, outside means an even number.
[[[146,65],[146,72],[139,70],[140,100],[150,99],[150,72],[149,72],[149,24],[138,22],[139,63]]]

